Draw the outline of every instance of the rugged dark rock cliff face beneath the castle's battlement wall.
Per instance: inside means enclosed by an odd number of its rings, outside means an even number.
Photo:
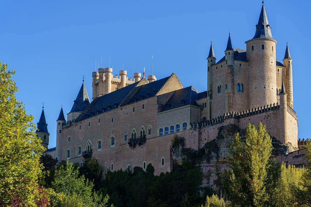
[[[172,143],[172,158],[174,164],[182,164],[184,159],[193,160],[201,166],[203,172],[202,186],[216,187],[217,179],[216,169],[223,171],[229,169],[229,146],[233,143],[234,135],[239,132],[241,141],[245,141],[245,129],[239,129],[235,124],[221,126],[215,139],[207,142],[202,149],[195,151],[190,148],[184,148],[185,139],[183,137],[175,138]],[[281,143],[272,137],[272,157],[276,155],[285,155],[289,152],[289,146]],[[194,156],[195,155],[195,156]]]

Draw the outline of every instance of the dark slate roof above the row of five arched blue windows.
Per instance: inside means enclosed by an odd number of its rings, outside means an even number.
[[[197,94],[198,91],[192,86],[176,90],[159,112],[172,110],[174,108],[187,105],[198,106],[195,102],[195,100],[197,100]],[[184,101],[183,105],[182,100]],[[169,108],[167,108],[167,105],[169,105]]]

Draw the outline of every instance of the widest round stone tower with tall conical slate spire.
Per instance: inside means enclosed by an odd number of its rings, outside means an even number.
[[[263,4],[255,36],[245,43],[248,106],[253,108],[276,103],[276,41],[272,38]]]

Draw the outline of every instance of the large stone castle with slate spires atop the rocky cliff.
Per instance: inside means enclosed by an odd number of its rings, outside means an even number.
[[[111,68],[92,73],[92,99],[84,82],[65,119],[56,121],[56,148],[45,153],[82,165],[92,157],[104,171],[132,169],[151,163],[155,174],[171,171],[171,140],[185,138],[185,147],[198,150],[219,135],[222,126],[244,129],[248,123],[266,124],[267,132],[286,146],[283,155],[298,150],[298,122],[293,108],[292,59],[286,45],[283,63],[276,60],[264,5],[255,35],[246,50],[233,48],[230,34],[225,56],[219,61],[213,45],[207,56],[207,91],[184,88],[175,73],[163,79]],[[284,44],[285,46],[285,44]],[[37,135],[48,148],[44,111]]]

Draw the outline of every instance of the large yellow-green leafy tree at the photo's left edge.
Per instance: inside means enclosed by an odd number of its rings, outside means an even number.
[[[13,74],[0,61],[0,206],[9,202],[35,205],[44,147],[35,134],[33,116],[16,100]]]

